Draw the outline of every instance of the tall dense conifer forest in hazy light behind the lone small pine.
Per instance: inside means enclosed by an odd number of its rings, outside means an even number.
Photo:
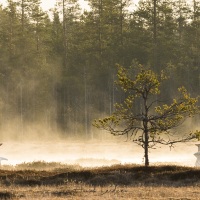
[[[116,63],[149,65],[171,79],[161,99],[184,85],[200,91],[200,2],[193,0],[7,0],[0,7],[0,123],[25,134],[41,122],[66,135],[92,137],[91,122],[110,114],[123,94]],[[135,105],[135,109],[139,109]]]

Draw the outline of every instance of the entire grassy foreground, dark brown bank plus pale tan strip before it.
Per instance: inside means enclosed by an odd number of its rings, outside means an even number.
[[[0,199],[200,199],[200,169],[115,165],[81,168],[33,162],[0,170]]]

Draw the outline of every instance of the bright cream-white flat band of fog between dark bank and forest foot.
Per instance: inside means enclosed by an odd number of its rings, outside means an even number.
[[[33,161],[79,164],[84,167],[112,164],[143,164],[143,149],[132,142],[114,141],[5,141],[0,147],[2,165],[16,165]],[[175,148],[150,150],[150,164],[178,164],[195,166],[195,143],[177,144]]]

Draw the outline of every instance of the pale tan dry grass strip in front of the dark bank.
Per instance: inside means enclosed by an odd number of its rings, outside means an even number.
[[[67,184],[61,186],[34,186],[1,188],[0,199],[162,199],[162,200],[189,200],[200,199],[198,186],[169,187],[169,186],[107,186],[93,188],[84,184]]]

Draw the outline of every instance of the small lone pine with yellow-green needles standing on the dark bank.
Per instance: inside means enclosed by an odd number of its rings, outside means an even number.
[[[200,138],[198,130],[184,134],[175,131],[185,119],[199,113],[198,97],[192,98],[184,87],[180,87],[177,98],[169,104],[162,103],[160,86],[167,77],[163,72],[156,74],[142,65],[129,69],[118,66],[117,76],[116,84],[125,93],[125,99],[115,105],[111,116],[95,120],[94,126],[115,136],[130,137],[144,149],[145,166],[149,166],[149,149],[155,145],[173,146]],[[136,106],[139,109],[134,109]]]

